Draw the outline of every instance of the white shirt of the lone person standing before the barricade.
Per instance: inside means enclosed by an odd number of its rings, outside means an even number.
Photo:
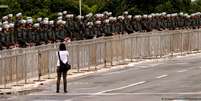
[[[56,54],[58,56],[58,52],[56,52]],[[59,55],[60,55],[60,59],[63,63],[68,62],[68,57],[69,57],[68,51],[59,51]],[[58,56],[58,60],[57,60],[57,66],[60,66],[59,56]]]

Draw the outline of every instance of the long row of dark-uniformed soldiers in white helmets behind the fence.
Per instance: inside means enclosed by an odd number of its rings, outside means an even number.
[[[14,20],[15,19],[15,20]],[[0,49],[37,46],[63,41],[92,39],[115,34],[149,32],[152,30],[175,30],[199,28],[201,13],[153,13],[150,15],[123,15],[113,17],[111,12],[103,14],[89,13],[74,16],[67,11],[59,12],[56,20],[49,18],[27,17],[22,13],[2,17],[0,22]]]

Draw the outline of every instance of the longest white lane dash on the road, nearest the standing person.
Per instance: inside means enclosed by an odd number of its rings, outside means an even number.
[[[116,91],[116,90],[122,90],[122,89],[125,89],[125,88],[141,85],[141,84],[144,84],[146,82],[147,81],[141,81],[141,82],[137,82],[137,83],[134,83],[134,84],[127,85],[127,86],[101,91],[101,92],[95,93],[95,95],[102,94],[102,93],[107,93],[107,92],[111,92],[111,91]]]

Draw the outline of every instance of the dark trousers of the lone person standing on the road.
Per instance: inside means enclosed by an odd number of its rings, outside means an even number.
[[[59,67],[57,68],[57,92],[59,92],[60,89],[61,75],[63,75],[64,92],[67,92],[67,70],[61,70]]]

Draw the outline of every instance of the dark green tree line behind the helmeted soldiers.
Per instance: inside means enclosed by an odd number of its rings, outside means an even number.
[[[55,18],[56,13],[68,11],[79,15],[79,0],[0,0],[0,17],[9,13],[22,12],[26,16]],[[201,12],[201,0],[82,0],[82,13],[113,12],[114,16],[123,11],[129,14],[150,13],[194,13]]]

